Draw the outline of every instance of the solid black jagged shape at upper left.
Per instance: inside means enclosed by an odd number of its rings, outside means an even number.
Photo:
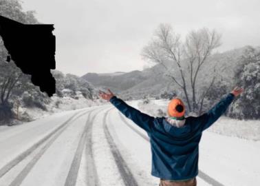
[[[22,24],[0,16],[0,36],[8,50],[6,61],[14,63],[25,74],[32,75],[32,83],[48,96],[55,93],[55,79],[50,70],[56,68],[54,25]]]

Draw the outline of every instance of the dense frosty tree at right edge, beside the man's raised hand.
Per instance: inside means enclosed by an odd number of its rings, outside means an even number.
[[[235,73],[235,84],[244,88],[244,93],[230,107],[229,115],[235,118],[260,118],[260,49],[248,47],[242,65]]]

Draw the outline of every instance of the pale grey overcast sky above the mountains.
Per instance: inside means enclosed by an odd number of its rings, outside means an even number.
[[[42,23],[54,23],[56,69],[129,72],[148,63],[140,52],[160,23],[185,35],[199,28],[222,34],[219,52],[259,45],[259,0],[23,0]]]

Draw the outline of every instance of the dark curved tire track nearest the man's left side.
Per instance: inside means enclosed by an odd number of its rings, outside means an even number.
[[[112,109],[110,109],[110,110],[112,110]],[[105,132],[107,143],[109,143],[109,148],[111,149],[111,153],[115,160],[116,166],[118,167],[118,170],[120,172],[120,176],[122,177],[122,180],[124,181],[124,185],[138,186],[136,179],[133,177],[133,174],[131,174],[131,170],[129,169],[129,167],[127,166],[127,163],[122,158],[122,155],[120,154],[118,148],[116,147],[116,143],[113,141],[113,138],[108,130],[106,119],[107,119],[107,114],[109,113],[110,110],[108,110],[105,113],[105,116],[103,118],[103,129]]]

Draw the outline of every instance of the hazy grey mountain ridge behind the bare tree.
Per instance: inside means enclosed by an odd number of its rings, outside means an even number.
[[[204,65],[204,68],[199,73],[197,78],[198,85],[204,86],[211,81],[214,68],[218,71],[218,79],[232,81],[244,49],[238,48],[210,56],[206,62],[207,64]],[[185,63],[183,65],[185,66]],[[173,67],[171,68],[171,74],[174,74],[177,81],[182,81],[177,66],[174,68],[175,66],[172,62],[167,63],[166,66]],[[120,94],[120,97],[125,99],[130,97],[140,99],[147,94],[156,96],[164,91],[180,90],[180,87],[169,76],[166,76],[166,70],[160,64],[142,71],[134,70],[131,72],[105,74],[87,73],[82,78],[92,83],[95,87],[109,87],[113,92]]]

